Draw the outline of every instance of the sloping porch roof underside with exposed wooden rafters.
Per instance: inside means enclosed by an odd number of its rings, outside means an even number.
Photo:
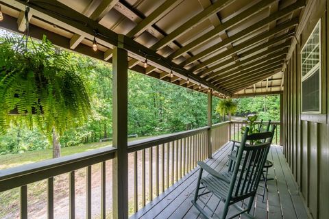
[[[25,31],[26,1],[0,3],[0,26]],[[212,88],[215,96],[268,94],[283,90],[282,69],[304,6],[305,0],[30,0],[29,33],[106,62],[113,47],[123,47],[130,69],[200,92]],[[95,33],[97,52],[90,48]]]

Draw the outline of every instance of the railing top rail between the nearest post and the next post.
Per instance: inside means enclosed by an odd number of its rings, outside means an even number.
[[[188,131],[180,131],[178,133],[171,133],[162,136],[156,136],[151,138],[145,138],[142,140],[136,140],[132,142],[128,142],[128,153],[132,153],[134,151],[140,151],[143,149],[147,149],[151,146],[156,146],[159,144],[164,144],[167,142],[172,142],[174,140],[186,138],[188,136],[193,136],[197,133],[201,133],[203,131],[207,131],[210,127],[201,127],[199,129],[193,129]]]

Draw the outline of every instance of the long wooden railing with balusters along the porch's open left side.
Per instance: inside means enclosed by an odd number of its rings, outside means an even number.
[[[128,143],[128,196],[130,213],[138,211],[149,201],[152,201],[169,186],[179,181],[197,166],[197,161],[208,158],[208,150],[214,153],[226,144],[230,137],[241,138],[237,131],[242,123],[219,123],[212,127],[202,127],[190,131],[182,131],[144,140]],[[232,133],[231,133],[232,131]],[[211,137],[211,144],[208,142]],[[91,218],[92,165],[100,164],[99,201],[100,216],[106,218],[106,202],[112,200],[112,193],[107,194],[106,175],[112,168],[106,168],[106,161],[114,158],[116,148],[106,147],[76,155],[69,155],[50,159],[34,164],[27,164],[7,170],[0,170],[0,192],[12,188],[21,188],[20,208],[21,218],[27,218],[27,190],[30,183],[47,180],[47,214],[53,218],[54,211],[54,177],[68,175],[69,178],[69,214],[75,218],[75,172],[78,169],[86,170],[86,217]],[[111,176],[111,175],[110,175]],[[112,180],[107,177],[107,180]],[[95,199],[93,199],[93,202]],[[108,204],[108,203],[107,203]],[[107,214],[110,214],[109,212]]]

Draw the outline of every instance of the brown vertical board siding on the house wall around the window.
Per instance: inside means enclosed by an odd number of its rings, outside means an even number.
[[[310,0],[312,1],[312,0]],[[284,72],[284,155],[313,218],[329,215],[328,69],[329,3],[315,0],[310,16]],[[327,12],[326,12],[327,11]],[[301,113],[300,50],[321,18],[321,114]]]

